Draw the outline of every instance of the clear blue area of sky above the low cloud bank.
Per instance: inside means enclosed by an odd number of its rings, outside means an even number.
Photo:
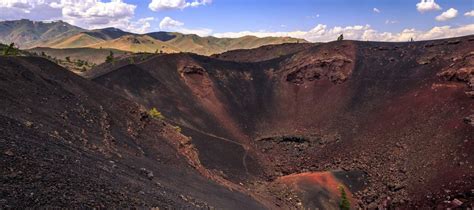
[[[258,30],[309,30],[318,23],[328,26],[366,25],[388,32],[405,28],[427,30],[434,26],[465,25],[474,18],[460,15],[447,22],[435,17],[442,11],[417,11],[413,0],[214,0],[196,8],[154,12],[147,1],[128,0],[137,4],[137,17],[169,16],[191,28],[211,28],[215,32]],[[465,13],[474,8],[473,0],[436,1],[443,9],[456,8]],[[378,8],[380,13],[373,11]],[[317,15],[319,14],[319,17]],[[387,20],[398,21],[386,24]]]

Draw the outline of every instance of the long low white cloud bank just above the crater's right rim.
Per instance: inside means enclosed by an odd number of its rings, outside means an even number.
[[[266,31],[242,31],[242,32],[228,32],[215,33],[216,37],[241,37],[241,36],[257,36],[257,37],[295,37],[302,38],[312,42],[327,42],[334,41],[340,35],[344,34],[345,39],[350,40],[370,40],[370,41],[408,41],[411,38],[414,40],[430,40],[441,39],[455,36],[464,36],[474,34],[474,24],[465,25],[453,28],[451,26],[434,27],[427,31],[416,29],[404,29],[398,33],[379,32],[373,29],[370,25],[355,25],[340,27],[336,26],[329,28],[327,25],[318,24],[309,31],[291,31],[291,32],[266,32]]]

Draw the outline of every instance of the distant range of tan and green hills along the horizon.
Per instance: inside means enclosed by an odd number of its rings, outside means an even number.
[[[0,22],[0,42],[15,42],[21,48],[110,48],[129,52],[192,52],[211,55],[270,44],[307,41],[291,37],[200,37],[175,32],[134,34],[117,28],[86,30],[62,21],[46,23],[17,20]]]

